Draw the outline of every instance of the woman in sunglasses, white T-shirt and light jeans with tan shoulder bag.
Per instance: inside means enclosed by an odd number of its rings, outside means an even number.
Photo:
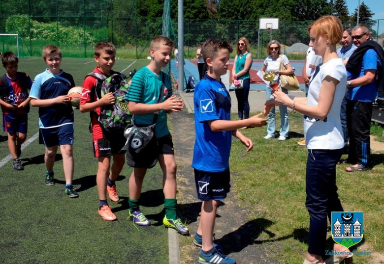
[[[277,40],[271,40],[267,46],[267,52],[269,56],[264,60],[264,64],[261,67],[261,72],[264,75],[266,72],[276,72],[275,79],[279,81],[278,75],[281,74],[292,74],[292,67],[289,64],[289,60],[286,55],[281,55],[280,53],[281,45]],[[280,60],[283,61],[283,65],[286,67],[286,70],[280,71]],[[288,94],[286,89],[282,89],[284,93]],[[270,99],[272,88],[267,85],[265,88],[265,94],[267,100]],[[276,133],[276,116],[275,108],[272,107],[271,111],[268,114],[268,126],[267,126],[267,135],[264,136],[265,139],[275,138]],[[279,106],[281,123],[280,123],[280,136],[279,140],[286,140],[289,131],[289,118],[287,106]]]

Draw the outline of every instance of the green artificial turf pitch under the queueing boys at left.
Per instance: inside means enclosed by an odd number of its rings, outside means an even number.
[[[64,58],[62,68],[73,75],[77,85],[93,70],[90,59]],[[122,71],[134,60],[117,60]],[[139,69],[148,60],[138,60],[129,70]],[[45,69],[41,58],[23,58],[19,71],[33,79]],[[0,74],[3,74],[1,70]],[[28,137],[38,132],[37,108],[31,107]],[[128,217],[128,179],[125,166],[117,182],[120,202],[109,201],[118,221],[98,216],[96,189],[97,159],[93,157],[88,113],[75,110],[74,186],[79,198],[64,194],[63,161],[57,155],[56,184],[44,185],[44,146],[38,140],[23,150],[24,171],[16,172],[12,162],[0,168],[0,263],[168,263],[168,235],[163,228],[163,195],[159,166],[149,170],[144,181],[142,210],[153,225],[137,230]],[[5,135],[1,132],[0,135]],[[0,160],[8,155],[7,141],[0,142]],[[156,239],[154,239],[156,238]]]

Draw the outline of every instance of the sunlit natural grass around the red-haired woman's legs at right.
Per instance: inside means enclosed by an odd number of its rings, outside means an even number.
[[[302,115],[289,113],[289,123],[291,138],[283,142],[264,140],[265,129],[242,130],[254,140],[252,155],[247,155],[242,144],[235,142],[230,158],[233,189],[250,212],[250,220],[262,217],[273,222],[268,228],[270,233],[262,233],[256,243],[265,243],[280,264],[302,263],[308,247],[309,215],[305,208],[308,151],[296,143],[303,137]],[[364,212],[364,242],[357,246],[361,246],[360,251],[365,249],[374,254],[355,256],[354,264],[380,263],[373,262],[379,259],[375,254],[381,254],[380,260],[384,254],[384,244],[380,242],[384,239],[384,151],[373,153],[371,158],[374,167],[365,172],[351,174],[345,171],[348,165],[337,166],[336,181],[344,210]],[[330,235],[329,232],[328,245],[332,243]]]

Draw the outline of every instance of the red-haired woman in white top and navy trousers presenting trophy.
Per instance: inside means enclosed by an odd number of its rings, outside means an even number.
[[[310,84],[307,98],[290,99],[285,93],[273,93],[276,105],[288,106],[304,114],[304,134],[308,148],[306,173],[306,208],[310,215],[309,245],[304,264],[324,263],[327,216],[331,221],[332,211],[344,211],[337,194],[336,164],[343,154],[344,139],[340,121],[340,106],[343,101],[347,72],[343,61],[337,56],[336,44],[343,34],[338,18],[324,16],[308,28],[310,46],[322,57]],[[349,250],[333,245],[332,263],[340,263],[352,254]]]

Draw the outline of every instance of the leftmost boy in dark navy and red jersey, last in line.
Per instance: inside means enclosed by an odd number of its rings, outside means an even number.
[[[13,158],[13,168],[23,170],[19,159],[21,144],[27,138],[28,112],[30,101],[28,90],[32,81],[28,74],[18,72],[19,59],[12,52],[1,56],[2,67],[6,74],[0,77],[0,105],[3,116],[3,130],[8,135],[8,149]]]

